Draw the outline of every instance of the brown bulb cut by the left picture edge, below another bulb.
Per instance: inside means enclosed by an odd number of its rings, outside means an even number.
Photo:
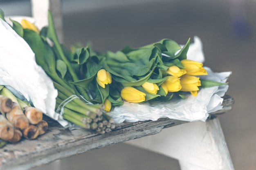
[[[3,116],[0,115],[0,138],[9,140],[13,138],[14,126]]]

